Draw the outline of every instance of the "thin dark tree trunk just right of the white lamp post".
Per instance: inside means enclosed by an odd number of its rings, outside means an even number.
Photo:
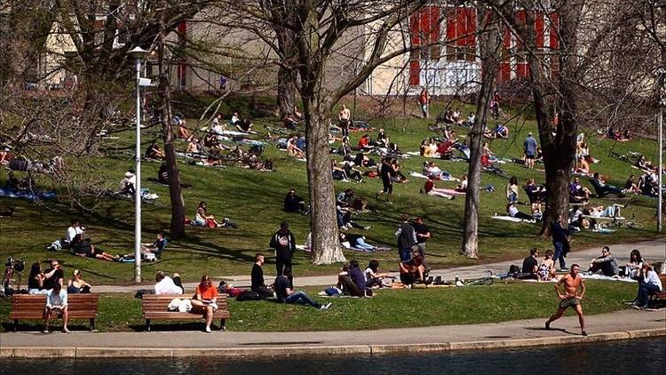
[[[166,2],[165,2],[166,3]],[[166,4],[164,4],[166,5]],[[164,8],[163,8],[164,9]],[[185,201],[180,187],[180,176],[178,174],[178,163],[176,161],[176,147],[173,144],[173,132],[171,130],[171,91],[169,82],[169,71],[165,64],[166,27],[164,11],[160,17],[160,34],[158,37],[158,59],[160,70],[159,94],[161,98],[160,111],[162,118],[164,154],[166,156],[167,169],[169,171],[169,197],[171,202],[170,237],[178,238],[185,235]]]

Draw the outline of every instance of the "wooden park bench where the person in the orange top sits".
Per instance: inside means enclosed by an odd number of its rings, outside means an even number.
[[[167,307],[172,299],[179,296],[165,296],[155,294],[144,294],[141,302],[143,317],[146,319],[146,329],[150,331],[150,323],[154,320],[201,320],[202,313],[180,313],[168,311]],[[220,320],[220,329],[226,331],[226,319],[229,318],[229,310],[226,306],[226,295],[218,296],[218,310],[213,313],[213,320]]]

